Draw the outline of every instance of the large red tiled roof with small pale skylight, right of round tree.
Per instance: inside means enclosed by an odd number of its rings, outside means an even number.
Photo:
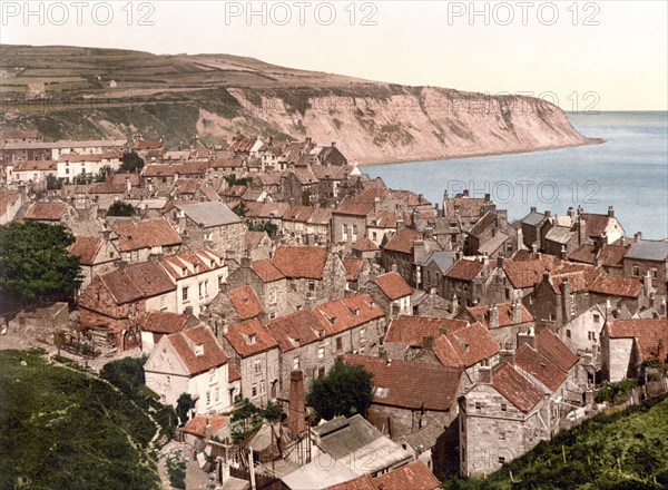
[[[461,369],[421,362],[389,362],[381,357],[346,354],[344,362],[369,371],[375,388],[374,403],[418,410],[424,403],[426,410],[452,409],[462,375]],[[439,386],[425,390],[425,386]]]

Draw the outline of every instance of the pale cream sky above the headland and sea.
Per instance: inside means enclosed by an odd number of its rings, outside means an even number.
[[[667,110],[668,2],[0,0],[0,43],[230,53],[370,80]]]

